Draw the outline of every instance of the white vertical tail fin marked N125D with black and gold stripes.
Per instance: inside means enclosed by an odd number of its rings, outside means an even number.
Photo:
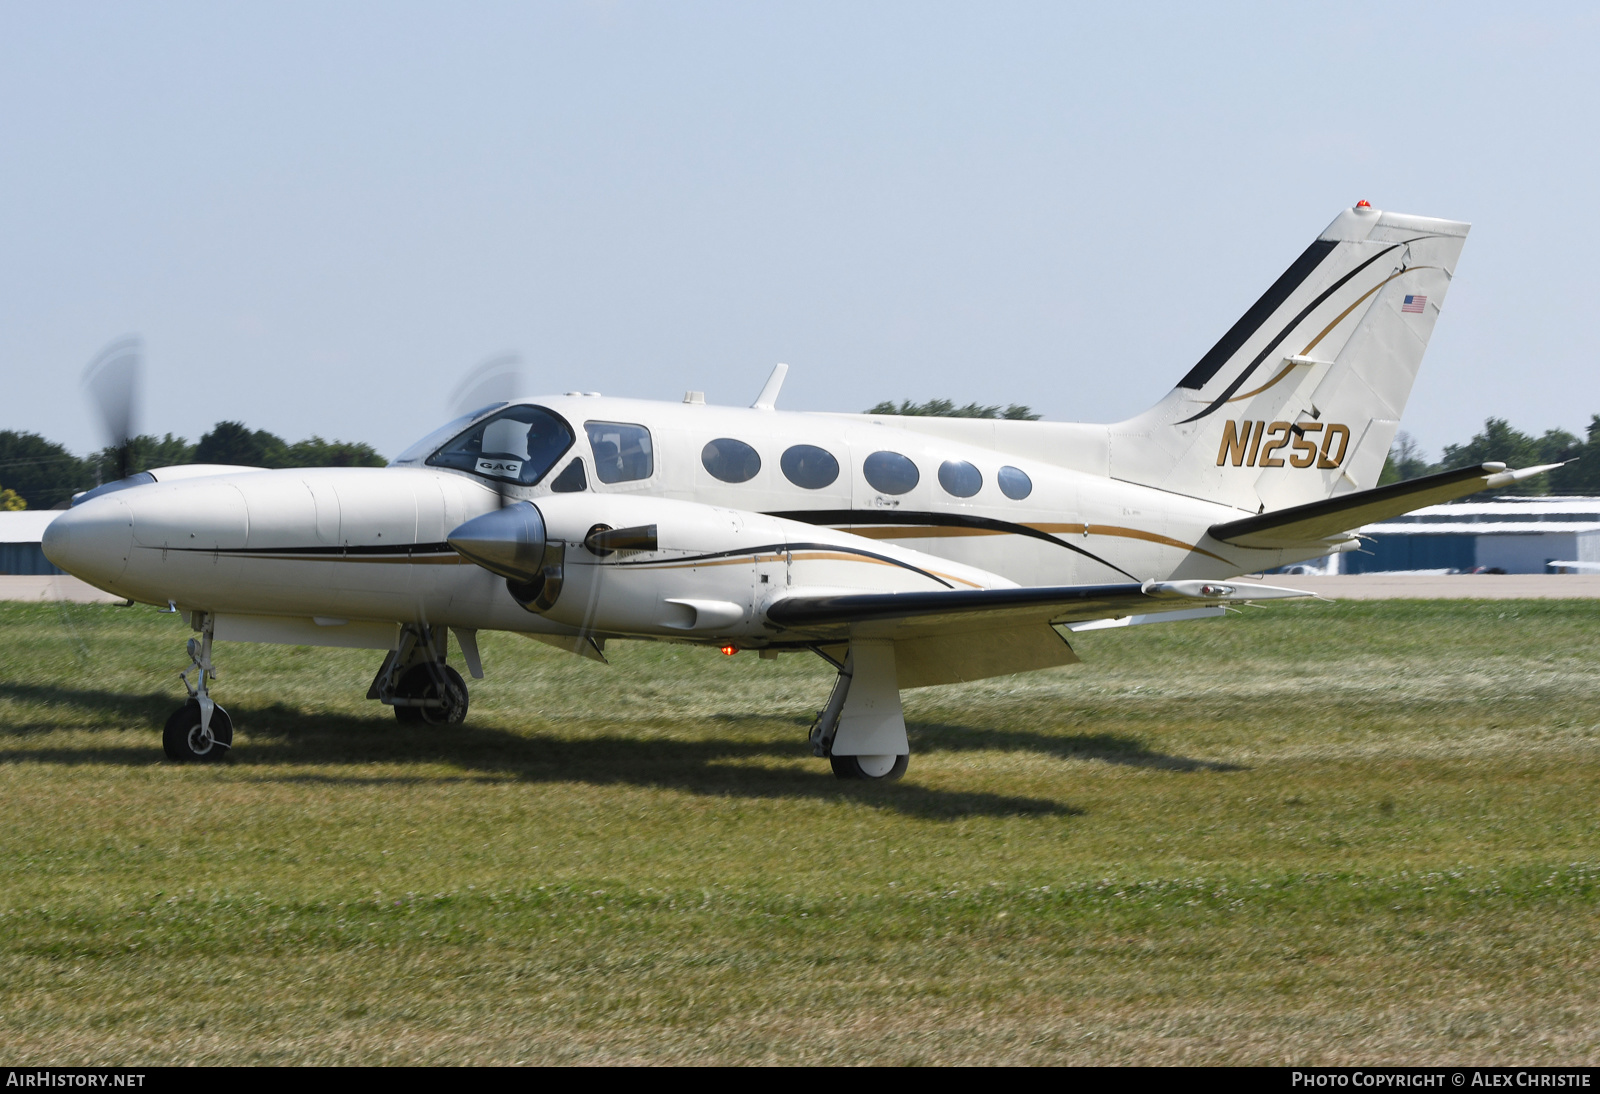
[[[1374,486],[1467,227],[1342,211],[1166,398],[1110,427],[1112,477],[1253,512]]]

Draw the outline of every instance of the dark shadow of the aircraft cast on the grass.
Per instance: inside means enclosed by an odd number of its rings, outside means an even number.
[[[170,694],[118,694],[94,689],[51,688],[0,683],[0,699],[51,707],[75,707],[101,723],[101,733],[118,734],[117,744],[88,747],[6,747],[10,761],[56,765],[144,766],[165,763],[160,747],[126,731],[160,726],[173,709]],[[808,757],[805,720],[798,731],[786,726],[782,737],[770,741],[683,741],[603,734],[566,737],[517,734],[506,729],[467,725],[454,728],[402,726],[389,712],[373,717],[307,715],[282,702],[229,707],[245,745],[234,769],[250,768],[262,777],[325,785],[435,785],[440,782],[587,782],[590,785],[666,787],[707,797],[854,800],[907,816],[950,819],[965,816],[1077,816],[1082,809],[1048,798],[1010,797],[986,792],[938,790],[910,782],[840,782],[832,773],[770,768],[763,760],[790,761]],[[747,733],[771,728],[773,718],[718,715],[723,725],[742,725]],[[779,723],[784,720],[779,720]],[[0,726],[0,739],[48,736],[61,723],[11,721]],[[91,726],[91,733],[93,733]],[[1170,771],[1234,771],[1230,765],[1187,760],[1150,752],[1128,737],[1114,734],[1051,736],[1026,731],[989,731],[968,726],[915,725],[914,750],[1011,750],[1043,752],[1058,757],[1096,758],[1107,763]],[[459,774],[338,774],[294,773],[298,766],[445,763]]]

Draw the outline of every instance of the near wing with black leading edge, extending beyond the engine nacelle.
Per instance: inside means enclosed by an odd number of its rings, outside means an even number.
[[[1250,600],[1310,597],[1277,585],[1240,581],[1147,581],[1117,585],[1045,585],[1034,589],[946,589],[938,592],[787,597],[766,617],[789,630],[830,637],[837,629],[870,627],[874,637],[990,630],[1029,622],[1069,624]]]

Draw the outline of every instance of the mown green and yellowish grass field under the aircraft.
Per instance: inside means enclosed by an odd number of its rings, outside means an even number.
[[[1600,601],[1288,605],[906,694],[840,784],[808,656],[378,656],[0,606],[0,1056],[1600,1062]]]

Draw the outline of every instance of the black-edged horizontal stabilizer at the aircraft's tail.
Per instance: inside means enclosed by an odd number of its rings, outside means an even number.
[[[1363,489],[1357,494],[1342,494],[1293,509],[1280,509],[1275,513],[1213,525],[1211,537],[1235,547],[1304,547],[1342,536],[1362,525],[1410,513],[1413,509],[1454,501],[1480,489],[1509,486],[1555,467],[1560,464],[1525,467],[1523,470],[1506,470],[1506,464],[1458,467],[1390,486]]]

